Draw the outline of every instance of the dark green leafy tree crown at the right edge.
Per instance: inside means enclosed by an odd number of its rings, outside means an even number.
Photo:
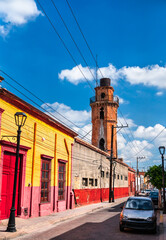
[[[151,184],[156,187],[157,189],[162,188],[162,166],[154,165],[149,168],[149,170],[146,172],[145,177],[148,177],[148,181],[151,182]],[[166,172],[165,172],[166,177]]]

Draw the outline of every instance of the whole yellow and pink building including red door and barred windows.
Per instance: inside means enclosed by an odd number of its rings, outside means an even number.
[[[16,216],[36,217],[72,207],[74,131],[0,89],[0,219],[9,217],[15,170],[16,112],[27,115],[21,128]]]

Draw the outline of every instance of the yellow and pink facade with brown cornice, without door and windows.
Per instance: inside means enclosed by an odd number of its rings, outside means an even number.
[[[71,206],[71,171],[72,145],[77,135],[71,129],[57,122],[47,114],[21,100],[5,89],[0,89],[0,199],[3,181],[3,144],[16,146],[17,139],[7,136],[17,135],[14,114],[24,112],[27,115],[25,125],[21,128],[20,146],[25,148],[24,190],[21,190],[21,209],[28,209],[29,216],[47,215]],[[4,143],[5,142],[5,143]],[[10,146],[12,148],[12,146]],[[16,149],[16,147],[15,147]],[[6,150],[3,150],[6,151]],[[49,202],[43,204],[41,199],[42,156],[49,161]],[[25,159],[26,158],[26,159]],[[58,199],[59,164],[65,166],[65,199]],[[24,198],[24,199],[23,199]],[[38,202],[36,203],[36,198]],[[1,209],[0,200],[0,209]],[[36,210],[36,208],[38,210]],[[1,210],[0,210],[1,211]],[[22,211],[22,210],[21,210]],[[23,213],[21,212],[21,215]]]

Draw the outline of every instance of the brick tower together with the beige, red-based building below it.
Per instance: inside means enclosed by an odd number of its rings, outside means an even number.
[[[110,84],[109,78],[100,79],[100,86],[95,88],[95,96],[90,99],[92,144],[75,138],[72,187],[77,205],[107,201],[109,184],[114,198],[135,194],[135,171],[117,154],[119,100],[114,97],[114,89]]]

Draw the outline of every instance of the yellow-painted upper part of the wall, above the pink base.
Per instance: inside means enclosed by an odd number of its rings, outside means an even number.
[[[1,139],[7,140],[3,136],[16,136],[17,126],[15,125],[14,114],[16,112],[22,111],[21,109],[12,106],[11,104],[0,99],[0,107],[5,109],[2,114],[1,120]],[[25,112],[26,113],[26,112]],[[49,155],[54,157],[54,161],[51,163],[51,186],[57,186],[57,161],[58,159],[64,159],[69,161],[66,169],[66,184],[68,182],[69,186],[71,184],[71,144],[74,140],[72,137],[68,136],[56,130],[55,128],[49,126],[48,124],[36,119],[35,117],[27,114],[27,120],[25,126],[22,128],[20,144],[28,146],[31,149],[27,153],[26,161],[26,180],[25,186],[31,184],[32,177],[32,167],[34,167],[34,177],[32,180],[33,186],[40,186],[40,173],[41,173],[41,154]],[[36,143],[34,145],[34,124],[36,123]],[[55,136],[57,136],[55,145]],[[10,138],[11,141],[13,141]],[[67,146],[65,145],[65,141]],[[35,160],[32,165],[33,159],[33,149],[35,146]],[[68,149],[67,149],[68,148]],[[69,156],[68,156],[69,151]],[[55,168],[55,170],[54,170]],[[69,168],[69,169],[68,169]],[[55,175],[56,174],[56,175]]]

